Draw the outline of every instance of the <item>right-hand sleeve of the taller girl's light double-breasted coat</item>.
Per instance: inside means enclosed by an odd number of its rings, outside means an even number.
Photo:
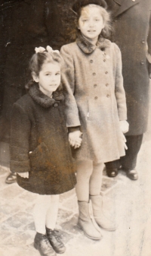
[[[122,55],[119,47],[114,43],[116,52],[116,84],[115,84],[115,94],[117,107],[119,112],[119,120],[127,119],[127,106],[125,89],[123,87],[123,77],[122,77]]]

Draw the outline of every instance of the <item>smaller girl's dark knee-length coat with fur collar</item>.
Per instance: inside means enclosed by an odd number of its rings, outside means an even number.
[[[61,91],[54,99],[35,84],[12,111],[11,172],[29,172],[29,179],[17,175],[17,183],[38,194],[61,194],[75,185]]]

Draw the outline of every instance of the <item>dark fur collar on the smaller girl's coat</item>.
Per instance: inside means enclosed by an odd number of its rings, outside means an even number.
[[[39,90],[39,84],[34,83],[32,87],[29,89],[29,95],[38,103],[40,106],[44,108],[48,108],[53,106],[54,103],[59,103],[60,101],[64,100],[63,91],[61,87],[58,87],[57,90],[53,93],[53,97],[50,98],[41,90]]]

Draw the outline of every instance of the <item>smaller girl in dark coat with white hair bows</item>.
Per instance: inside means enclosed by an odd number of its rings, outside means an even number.
[[[65,251],[54,226],[59,194],[74,188],[75,173],[60,88],[63,59],[50,46],[47,51],[43,47],[35,51],[30,62],[33,81],[12,110],[11,172],[17,172],[20,187],[39,194],[34,208],[34,246],[49,256],[51,246],[57,253]]]

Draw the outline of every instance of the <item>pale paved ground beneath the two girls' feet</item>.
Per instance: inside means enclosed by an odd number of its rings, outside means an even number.
[[[5,184],[9,172],[7,144],[0,144],[0,156],[0,256],[39,256],[33,248],[32,208],[36,194],[16,183]],[[100,191],[103,210],[116,222],[117,229],[100,229],[100,241],[88,239],[77,226],[75,189],[60,195],[56,229],[66,245],[63,256],[151,256],[151,119],[138,155],[137,171],[137,181],[128,179],[125,172],[110,179],[104,171]]]

